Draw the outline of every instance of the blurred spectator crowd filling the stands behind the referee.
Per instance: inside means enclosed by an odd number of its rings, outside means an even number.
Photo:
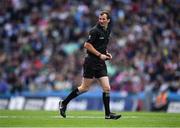
[[[77,87],[101,10],[113,21],[112,91],[180,93],[180,0],[1,0],[0,94]]]

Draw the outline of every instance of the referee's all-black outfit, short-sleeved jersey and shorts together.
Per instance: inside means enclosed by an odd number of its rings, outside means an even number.
[[[87,42],[102,54],[106,54],[107,45],[109,42],[110,27],[104,30],[99,24],[95,25],[89,32]],[[104,60],[92,54],[87,50],[87,57],[84,62],[83,76],[86,78],[100,78],[107,76],[107,67]]]

